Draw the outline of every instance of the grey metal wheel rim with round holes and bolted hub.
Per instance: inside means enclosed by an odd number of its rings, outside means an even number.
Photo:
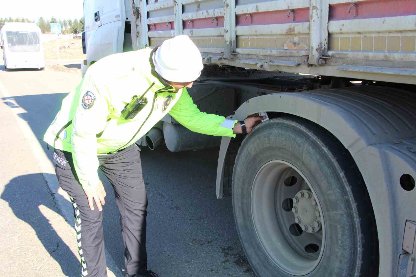
[[[250,198],[257,239],[270,260],[291,275],[312,272],[322,257],[325,224],[319,199],[302,172],[286,161],[270,161],[256,174]]]

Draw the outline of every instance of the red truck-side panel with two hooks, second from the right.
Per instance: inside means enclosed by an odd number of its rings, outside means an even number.
[[[309,22],[309,8],[290,10],[274,10],[270,12],[251,12],[236,16],[236,26],[270,25],[283,23]],[[295,14],[295,20],[293,16]]]

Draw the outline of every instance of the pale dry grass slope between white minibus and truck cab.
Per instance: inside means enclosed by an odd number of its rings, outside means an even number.
[[[58,39],[59,59],[85,59],[86,54],[82,53],[82,41],[80,39],[62,40]],[[56,40],[43,43],[45,60],[58,59],[56,51]]]

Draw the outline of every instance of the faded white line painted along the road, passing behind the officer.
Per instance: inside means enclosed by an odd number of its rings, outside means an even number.
[[[26,111],[25,109],[17,105],[15,100],[12,99],[13,96],[10,96],[10,94],[7,92],[7,89],[1,82],[0,92],[6,98],[3,101],[12,102],[13,104],[15,104],[15,106],[17,106],[11,110],[13,112],[13,115],[15,116],[20,130],[26,138],[26,146],[32,151],[33,156],[35,157],[35,162],[37,163],[37,168],[39,168],[39,172],[42,174],[52,193],[59,193],[60,195],[62,195],[62,198],[58,197],[55,198],[55,200],[59,206],[59,209],[62,211],[62,215],[64,216],[65,220],[71,225],[74,222],[74,214],[71,205],[71,200],[69,199],[68,194],[59,186],[58,180],[55,177],[54,165],[49,161],[49,158],[47,157],[45,151],[42,148],[42,144],[45,144],[46,147],[46,143],[44,143],[43,141],[38,141],[27,122],[20,116],[18,116],[18,114],[24,113]],[[75,227],[77,227],[77,225],[75,225]],[[111,258],[111,256],[108,254],[107,250],[105,250],[105,256],[107,260],[107,273],[109,274],[109,277],[111,277],[111,275],[116,277],[124,277],[121,269],[116,265],[116,262],[114,262],[113,258]]]

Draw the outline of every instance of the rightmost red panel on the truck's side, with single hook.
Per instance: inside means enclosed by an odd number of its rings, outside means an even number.
[[[371,0],[354,3],[355,7],[350,7],[352,2],[329,5],[329,21],[416,15],[416,0]]]

